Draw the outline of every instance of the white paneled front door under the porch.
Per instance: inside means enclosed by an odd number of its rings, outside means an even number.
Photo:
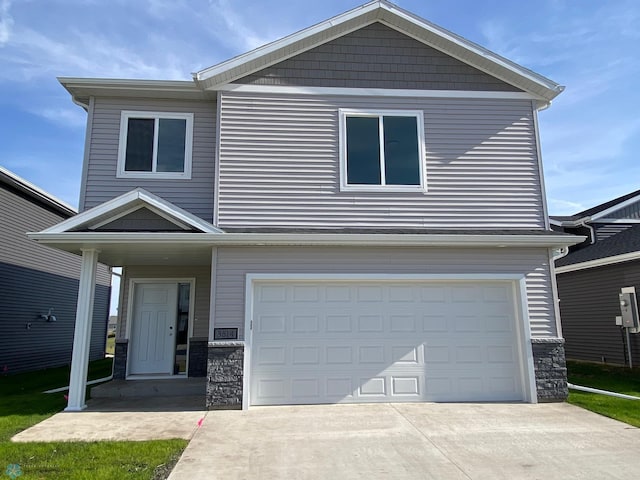
[[[171,375],[175,356],[178,285],[137,283],[129,346],[130,375]]]

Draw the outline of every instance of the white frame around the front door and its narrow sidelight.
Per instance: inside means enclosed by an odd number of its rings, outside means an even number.
[[[127,292],[127,324],[126,324],[126,338],[129,342],[129,346],[131,346],[131,333],[132,333],[132,325],[134,319],[134,308],[135,308],[135,296],[137,295],[136,286],[144,285],[144,284],[157,284],[157,283],[166,283],[166,284],[176,284],[179,283],[188,283],[189,284],[189,327],[187,330],[187,367],[184,375],[180,374],[169,374],[169,375],[133,375],[129,373],[129,369],[131,366],[130,356],[131,349],[127,348],[127,368],[125,372],[125,378],[127,380],[149,380],[149,379],[159,379],[159,378],[185,378],[189,376],[189,349],[191,347],[191,337],[193,336],[193,321],[195,319],[195,298],[196,298],[196,279],[195,277],[162,277],[162,278],[130,278],[129,279],[129,290]],[[177,319],[177,311],[176,311],[176,319]],[[174,327],[175,328],[175,327]],[[177,332],[177,330],[176,330]],[[174,355],[175,355],[175,345],[173,346]]]

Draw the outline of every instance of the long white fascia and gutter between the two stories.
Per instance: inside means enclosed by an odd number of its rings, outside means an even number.
[[[561,247],[585,240],[583,236],[474,235],[474,234],[345,234],[345,233],[137,233],[31,232],[44,244],[189,244],[211,246],[434,246],[434,247]]]

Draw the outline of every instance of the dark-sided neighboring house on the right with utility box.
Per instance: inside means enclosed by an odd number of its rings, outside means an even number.
[[[575,215],[553,216],[551,224],[587,236],[556,260],[567,357],[628,364],[626,334],[616,316],[622,288],[640,294],[640,190]],[[640,335],[629,339],[632,364],[640,365]]]

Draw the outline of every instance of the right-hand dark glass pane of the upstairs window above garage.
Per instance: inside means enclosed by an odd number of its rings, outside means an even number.
[[[384,117],[387,185],[420,185],[416,117]]]

